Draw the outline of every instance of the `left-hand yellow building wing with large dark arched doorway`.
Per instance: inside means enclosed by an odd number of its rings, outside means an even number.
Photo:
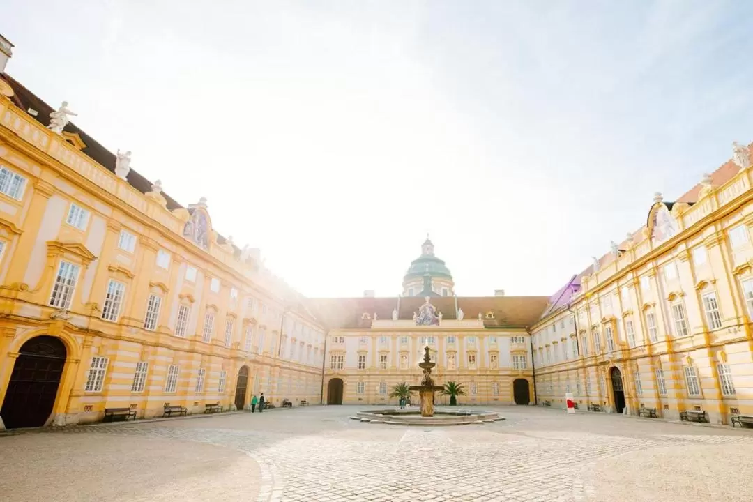
[[[5,427],[319,403],[325,330],[300,295],[212,230],[205,199],[178,205],[56,113],[0,73]]]

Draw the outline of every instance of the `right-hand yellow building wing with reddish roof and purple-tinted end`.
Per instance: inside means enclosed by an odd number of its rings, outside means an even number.
[[[531,327],[540,403],[753,413],[750,147],[593,259]]]

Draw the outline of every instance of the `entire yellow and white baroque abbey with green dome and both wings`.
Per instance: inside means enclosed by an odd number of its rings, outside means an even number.
[[[0,37],[0,427],[165,406],[395,404],[419,383],[463,405],[663,417],[753,413],[750,148],[612,243],[552,297],[458,297],[431,240],[402,294],[303,297],[5,73]],[[399,278],[396,277],[396,284]],[[440,403],[447,403],[440,397]]]

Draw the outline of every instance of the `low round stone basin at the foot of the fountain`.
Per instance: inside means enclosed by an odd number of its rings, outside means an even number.
[[[497,412],[475,409],[454,409],[441,408],[434,410],[434,416],[421,416],[421,412],[416,409],[372,409],[361,411],[351,417],[354,420],[370,422],[372,424],[389,424],[389,425],[424,425],[424,426],[444,426],[444,425],[466,425],[466,424],[489,424],[495,421],[505,420]]]

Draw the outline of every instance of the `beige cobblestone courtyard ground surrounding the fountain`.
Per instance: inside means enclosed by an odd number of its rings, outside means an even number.
[[[408,428],[356,409],[18,432],[0,500],[750,500],[751,430],[523,407]]]

